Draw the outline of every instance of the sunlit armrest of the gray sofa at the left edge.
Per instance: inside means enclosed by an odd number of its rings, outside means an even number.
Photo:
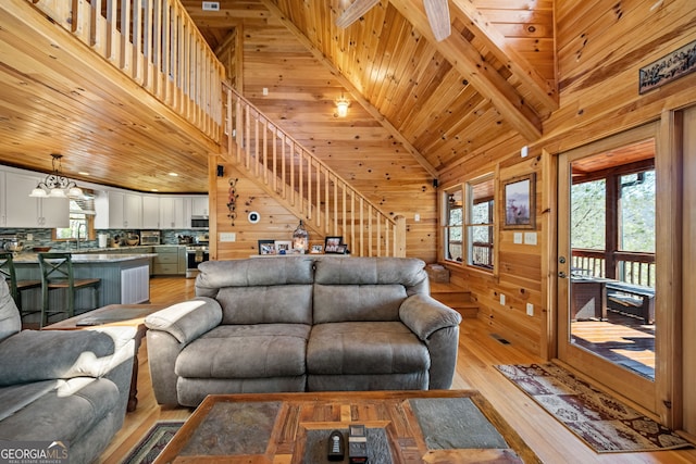
[[[0,386],[104,377],[135,355],[135,327],[23,330],[0,343]]]

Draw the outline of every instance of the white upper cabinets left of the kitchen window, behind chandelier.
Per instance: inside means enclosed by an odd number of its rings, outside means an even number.
[[[4,174],[4,227],[70,227],[70,200],[29,197],[38,176]]]

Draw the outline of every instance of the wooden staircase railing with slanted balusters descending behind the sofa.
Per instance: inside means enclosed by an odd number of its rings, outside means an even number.
[[[225,156],[321,236],[341,236],[359,256],[403,256],[406,220],[389,217],[224,85]]]

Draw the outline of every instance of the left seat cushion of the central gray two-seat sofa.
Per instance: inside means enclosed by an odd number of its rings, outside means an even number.
[[[221,325],[188,344],[176,375],[189,378],[265,378],[304,375],[311,326]]]

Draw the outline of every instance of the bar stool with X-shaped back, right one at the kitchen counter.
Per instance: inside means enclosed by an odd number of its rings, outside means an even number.
[[[94,308],[99,305],[98,278],[75,278],[73,260],[70,253],[39,253],[39,267],[41,269],[41,327],[48,324],[52,315],[66,313],[67,317],[75,315],[75,293],[79,289],[91,288],[94,290]],[[67,309],[51,311],[49,308],[49,292],[51,290],[66,290]]]

